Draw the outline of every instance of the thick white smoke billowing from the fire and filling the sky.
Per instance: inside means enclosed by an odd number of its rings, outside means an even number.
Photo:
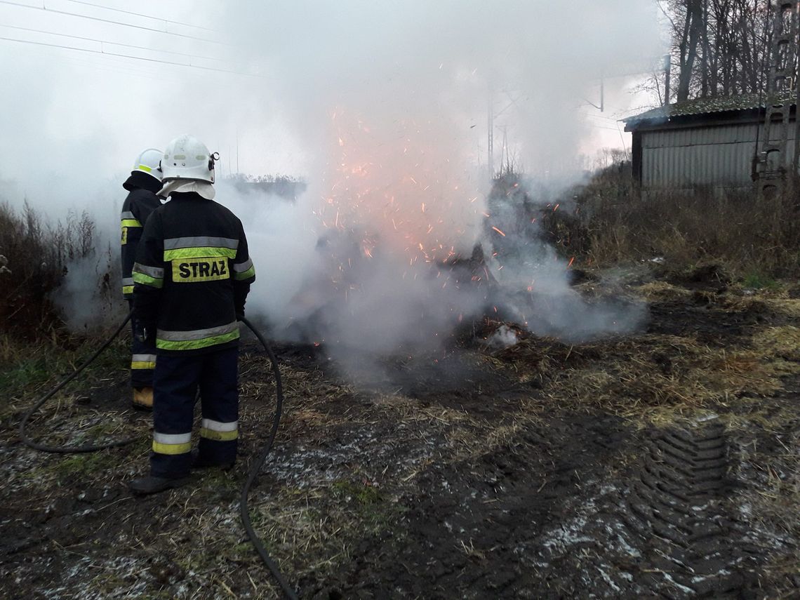
[[[601,74],[660,54],[649,3],[238,0],[175,10],[190,22],[209,16],[230,42],[214,46],[221,63],[203,64],[250,75],[122,61],[98,74],[34,54],[0,65],[16,90],[0,113],[18,115],[2,129],[27,149],[0,177],[14,179],[20,201],[55,218],[89,208],[113,240],[134,156],[192,133],[222,154],[218,200],[245,223],[258,270],[248,310],[276,333],[376,353],[430,347],[485,307],[484,286],[441,266],[476,242],[504,287],[535,282],[556,298],[509,301],[535,331],[598,334],[635,320],[582,303],[545,246],[513,263],[490,257],[486,126],[491,113],[495,168],[511,153],[527,173],[574,174],[593,134],[578,108]],[[118,33],[164,47],[158,34]],[[193,43],[175,49],[210,54]],[[236,170],[302,175],[308,187],[294,204],[246,194],[222,182]]]

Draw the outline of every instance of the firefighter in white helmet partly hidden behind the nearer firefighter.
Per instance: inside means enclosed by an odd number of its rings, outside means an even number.
[[[122,203],[120,225],[122,226],[122,296],[133,308],[133,266],[139,239],[142,237],[147,218],[161,206],[156,195],[161,190],[162,151],[148,148],[134,162],[130,177],[122,184],[128,196]],[[136,319],[131,320],[132,329],[137,329]],[[130,385],[134,388],[133,406],[138,410],[153,409],[153,369],[155,346],[153,342],[142,342],[134,334],[131,342]]]

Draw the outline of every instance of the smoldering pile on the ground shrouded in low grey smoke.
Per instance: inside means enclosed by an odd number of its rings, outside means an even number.
[[[492,222],[486,227],[494,230]],[[584,341],[642,324],[641,303],[586,297],[571,285],[581,278],[546,242],[510,235],[502,236],[504,246],[484,238],[470,254],[410,265],[375,239],[365,246],[358,236],[329,231],[317,243],[325,268],[295,297],[312,310],[276,334],[357,354],[414,354],[472,344],[498,349],[531,335]]]

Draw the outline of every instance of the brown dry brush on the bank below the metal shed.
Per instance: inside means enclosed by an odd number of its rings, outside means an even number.
[[[678,270],[723,262],[739,278],[800,274],[800,222],[792,186],[760,200],[753,190],[638,194],[630,163],[621,162],[568,194],[577,223],[569,225],[563,215],[542,225],[568,242],[567,251],[599,266],[662,257]],[[567,225],[571,235],[559,234]]]

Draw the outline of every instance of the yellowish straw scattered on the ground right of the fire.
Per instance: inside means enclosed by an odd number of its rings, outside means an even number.
[[[686,301],[696,294],[666,282],[647,283],[638,292],[659,301]],[[800,313],[800,301],[784,292],[711,295],[706,302],[731,312],[752,310],[774,318]],[[531,337],[487,360],[521,382],[542,382],[553,406],[594,406],[642,424],[667,424],[737,398],[778,393],[783,378],[800,374],[800,328],[765,326],[728,347],[662,334],[574,346]]]

